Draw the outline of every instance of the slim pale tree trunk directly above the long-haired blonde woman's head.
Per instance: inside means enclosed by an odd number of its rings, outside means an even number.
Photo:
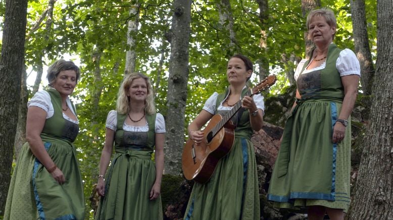
[[[136,60],[136,35],[138,33],[139,25],[139,3],[132,5],[130,8],[127,30],[127,53],[126,53],[126,66],[124,77],[130,73],[135,72],[135,60]]]

